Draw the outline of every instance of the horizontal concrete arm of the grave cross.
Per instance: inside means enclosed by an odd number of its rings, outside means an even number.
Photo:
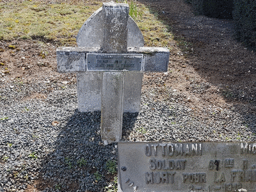
[[[60,47],[57,49],[56,54],[58,72],[85,72],[88,70],[87,55],[95,55],[94,58],[96,58],[98,54],[99,56],[102,56],[102,54],[105,53],[102,52],[100,47]],[[139,67],[125,68],[123,65],[123,67],[119,67],[119,70],[129,71],[131,69],[133,71],[141,72],[166,72],[168,70],[168,61],[170,55],[168,49],[162,47],[128,47],[127,52],[120,55],[123,55],[125,58],[129,58],[129,55],[136,54],[141,55],[141,62],[138,64],[140,65]],[[109,55],[111,54],[107,55],[110,57]],[[127,62],[129,63],[128,60]],[[112,71],[112,69],[113,71],[118,71],[118,68],[115,67],[110,67],[108,70],[100,69],[99,71]]]

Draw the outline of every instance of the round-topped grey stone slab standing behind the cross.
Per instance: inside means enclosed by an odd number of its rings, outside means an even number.
[[[103,43],[103,34],[104,18],[101,7],[84,22],[77,34],[77,45],[79,47],[100,47]],[[143,35],[134,20],[129,17],[127,20],[127,47],[143,47],[143,45]],[[124,87],[124,112],[136,113],[140,111],[143,74],[134,72],[129,74],[133,74],[132,77],[125,76],[124,79],[126,82]],[[99,76],[102,76],[102,72],[95,72],[95,78],[86,72],[79,72],[79,75],[77,75],[77,100],[80,112],[101,110],[101,87],[99,88],[98,85],[102,84],[102,79],[99,79]],[[84,79],[90,79],[91,81]],[[83,81],[86,81],[86,84],[82,84]],[[89,101],[94,102],[89,104]]]

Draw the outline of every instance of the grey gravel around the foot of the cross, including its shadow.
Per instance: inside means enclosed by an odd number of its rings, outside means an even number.
[[[195,91],[205,89],[201,86]],[[47,98],[22,100],[35,91]],[[117,161],[116,143],[105,146],[100,140],[99,111],[77,111],[76,84],[10,82],[1,86],[0,95],[0,191],[106,191],[106,186],[115,187],[106,163]],[[164,98],[159,99],[161,95]],[[205,106],[206,117],[198,118],[186,107],[187,100],[176,90],[144,89],[140,113],[124,114],[123,140],[255,140],[256,119],[250,113]]]

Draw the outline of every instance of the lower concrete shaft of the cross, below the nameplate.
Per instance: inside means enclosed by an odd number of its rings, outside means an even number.
[[[122,138],[123,122],[123,72],[102,74],[101,139],[109,143]]]

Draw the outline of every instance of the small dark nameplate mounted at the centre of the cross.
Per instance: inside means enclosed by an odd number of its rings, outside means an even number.
[[[143,54],[93,54],[87,56],[88,71],[140,71]]]

